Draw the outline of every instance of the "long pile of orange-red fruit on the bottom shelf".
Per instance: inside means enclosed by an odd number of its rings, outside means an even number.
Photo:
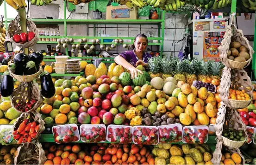
[[[47,157],[44,165],[90,165],[90,164],[145,164],[154,165],[154,156],[150,154],[150,146],[135,144],[107,144],[97,145],[50,145],[45,143],[44,151]],[[84,149],[82,149],[84,148]]]

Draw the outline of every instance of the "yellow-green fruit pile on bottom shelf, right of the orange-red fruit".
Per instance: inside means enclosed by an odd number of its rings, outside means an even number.
[[[207,144],[190,145],[183,144],[158,144],[152,150],[156,156],[155,165],[212,165],[212,151]]]

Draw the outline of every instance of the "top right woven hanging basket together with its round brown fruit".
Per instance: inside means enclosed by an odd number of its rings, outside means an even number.
[[[244,37],[243,31],[235,26],[234,16],[231,16],[231,24],[227,27],[224,39],[221,41],[219,58],[231,69],[243,69],[250,64],[254,50]]]

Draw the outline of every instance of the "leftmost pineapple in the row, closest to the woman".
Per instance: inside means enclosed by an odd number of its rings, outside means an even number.
[[[160,57],[161,58],[161,57]],[[148,58],[149,74],[151,78],[161,77],[161,67],[159,65],[158,57]]]

